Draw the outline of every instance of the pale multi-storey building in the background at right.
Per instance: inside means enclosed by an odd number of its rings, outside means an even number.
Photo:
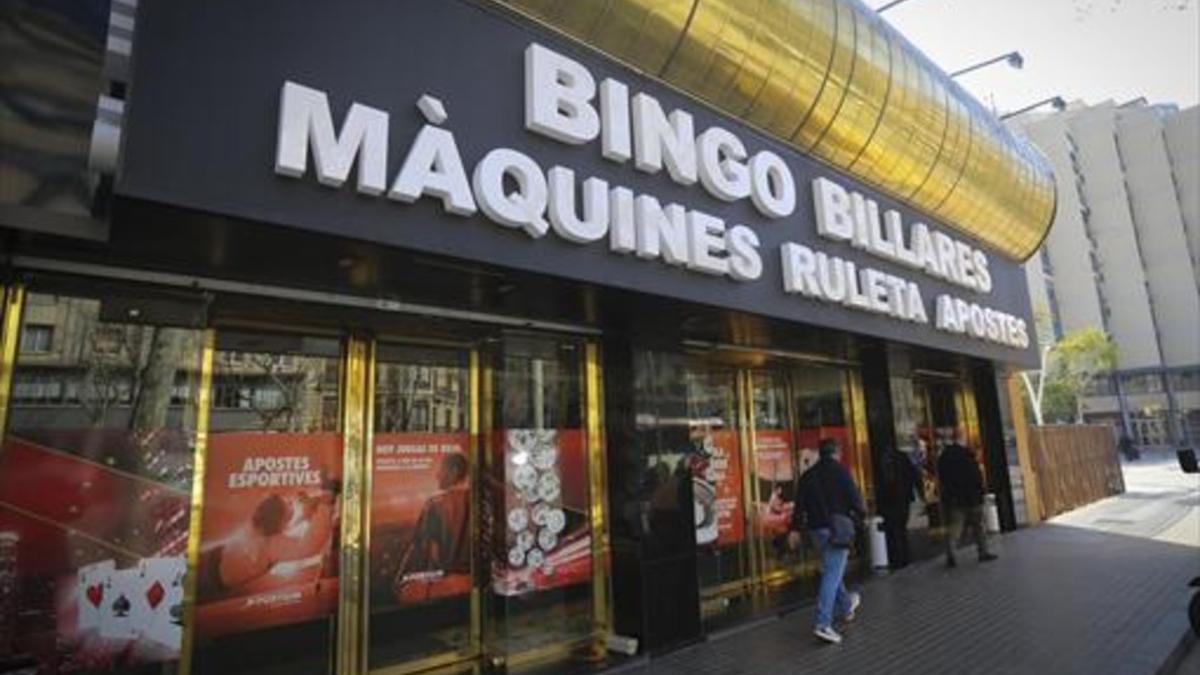
[[[1042,342],[1097,325],[1120,350],[1085,417],[1142,446],[1200,443],[1200,107],[1076,102],[1012,125],[1057,181],[1026,264]]]

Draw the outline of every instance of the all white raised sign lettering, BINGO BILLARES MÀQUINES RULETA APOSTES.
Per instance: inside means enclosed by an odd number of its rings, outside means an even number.
[[[425,95],[418,108],[426,124],[395,175],[388,175],[389,114],[354,103],[335,129],[324,91],[284,82],[275,171],[300,178],[310,171],[340,187],[356,169],[360,193],[412,203],[438,199],[446,213],[482,213],[503,227],[539,239],[553,233],[574,244],[607,240],[614,255],[724,276],[749,283],[763,273],[760,239],[744,223],[728,223],[700,209],[664,203],[653,195],[576,177],[570,167],[544,169],[511,148],[486,153],[468,173],[442,101]],[[646,92],[630,92],[613,78],[596,83],[580,62],[530,44],[524,52],[524,126],[570,145],[599,139],[600,154],[632,162],[647,174],[666,172],[679,185],[697,183],[722,202],[749,199],[768,220],[791,217],[797,186],[787,163],[762,149],[751,153],[733,132],[709,126],[696,132],[683,109],[666,112]],[[931,229],[905,223],[895,210],[827,178],[812,181],[817,233],[917,274],[974,294],[991,292],[984,251]],[[779,249],[785,292],[848,309],[926,324],[920,286],[904,276],[815,251],[798,243]],[[937,329],[1015,348],[1028,346],[1025,319],[978,301],[940,294]]]

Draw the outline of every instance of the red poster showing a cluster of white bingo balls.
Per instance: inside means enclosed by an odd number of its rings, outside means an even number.
[[[520,596],[592,579],[587,453],[580,429],[508,429],[494,437],[492,589]]]

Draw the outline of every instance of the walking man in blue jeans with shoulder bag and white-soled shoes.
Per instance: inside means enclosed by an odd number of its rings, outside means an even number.
[[[854,524],[862,520],[865,509],[854,479],[838,461],[836,442],[821,441],[817,454],[817,462],[800,477],[787,538],[792,549],[797,549],[800,531],[808,530],[821,552],[821,586],[812,634],[838,644],[841,634],[833,627],[834,613],[842,621],[853,621],[863,603],[859,593],[846,590],[845,575],[857,534]]]

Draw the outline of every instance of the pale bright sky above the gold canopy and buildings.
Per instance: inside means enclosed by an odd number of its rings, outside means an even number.
[[[1020,52],[1024,70],[956,78],[998,113],[1049,96],[1200,100],[1200,0],[907,0],[882,17],[947,72]]]

